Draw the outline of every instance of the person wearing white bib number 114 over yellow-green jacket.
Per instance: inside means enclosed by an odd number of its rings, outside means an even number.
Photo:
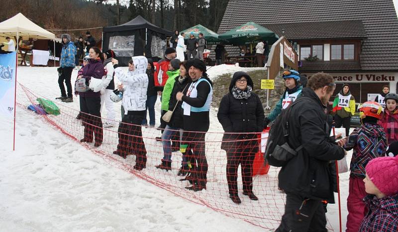
[[[343,88],[336,95],[336,98],[334,98],[332,112],[335,113],[334,121],[336,122],[336,128],[340,128],[343,125],[345,136],[348,136],[351,117],[355,114],[355,98],[350,92],[349,84],[343,84]]]

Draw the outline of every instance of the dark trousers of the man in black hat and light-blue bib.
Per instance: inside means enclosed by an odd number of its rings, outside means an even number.
[[[206,187],[207,183],[208,164],[204,144],[205,135],[205,132],[184,132],[182,141],[182,144],[188,145],[187,151],[192,149],[192,154],[187,152],[185,155],[191,163],[196,162],[196,167],[191,171],[191,176],[194,185],[199,187]]]

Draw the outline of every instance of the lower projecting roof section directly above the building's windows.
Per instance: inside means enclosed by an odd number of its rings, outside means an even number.
[[[366,39],[361,20],[323,21],[317,23],[270,23],[265,26],[289,40],[308,39]]]

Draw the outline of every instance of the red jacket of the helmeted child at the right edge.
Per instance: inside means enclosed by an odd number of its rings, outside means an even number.
[[[388,144],[398,141],[398,109],[394,112],[385,109],[382,119],[379,120],[379,125],[384,128]]]

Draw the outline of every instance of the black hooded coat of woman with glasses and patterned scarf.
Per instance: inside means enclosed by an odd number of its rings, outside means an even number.
[[[236,72],[231,79],[229,93],[222,97],[218,108],[217,118],[226,132],[222,138],[223,149],[231,147],[231,144],[226,142],[228,140],[254,139],[257,136],[254,133],[263,130],[264,109],[260,97],[253,91],[248,99],[236,99],[232,95],[232,88],[241,77],[246,77],[247,86],[253,88],[253,80],[247,73]]]

